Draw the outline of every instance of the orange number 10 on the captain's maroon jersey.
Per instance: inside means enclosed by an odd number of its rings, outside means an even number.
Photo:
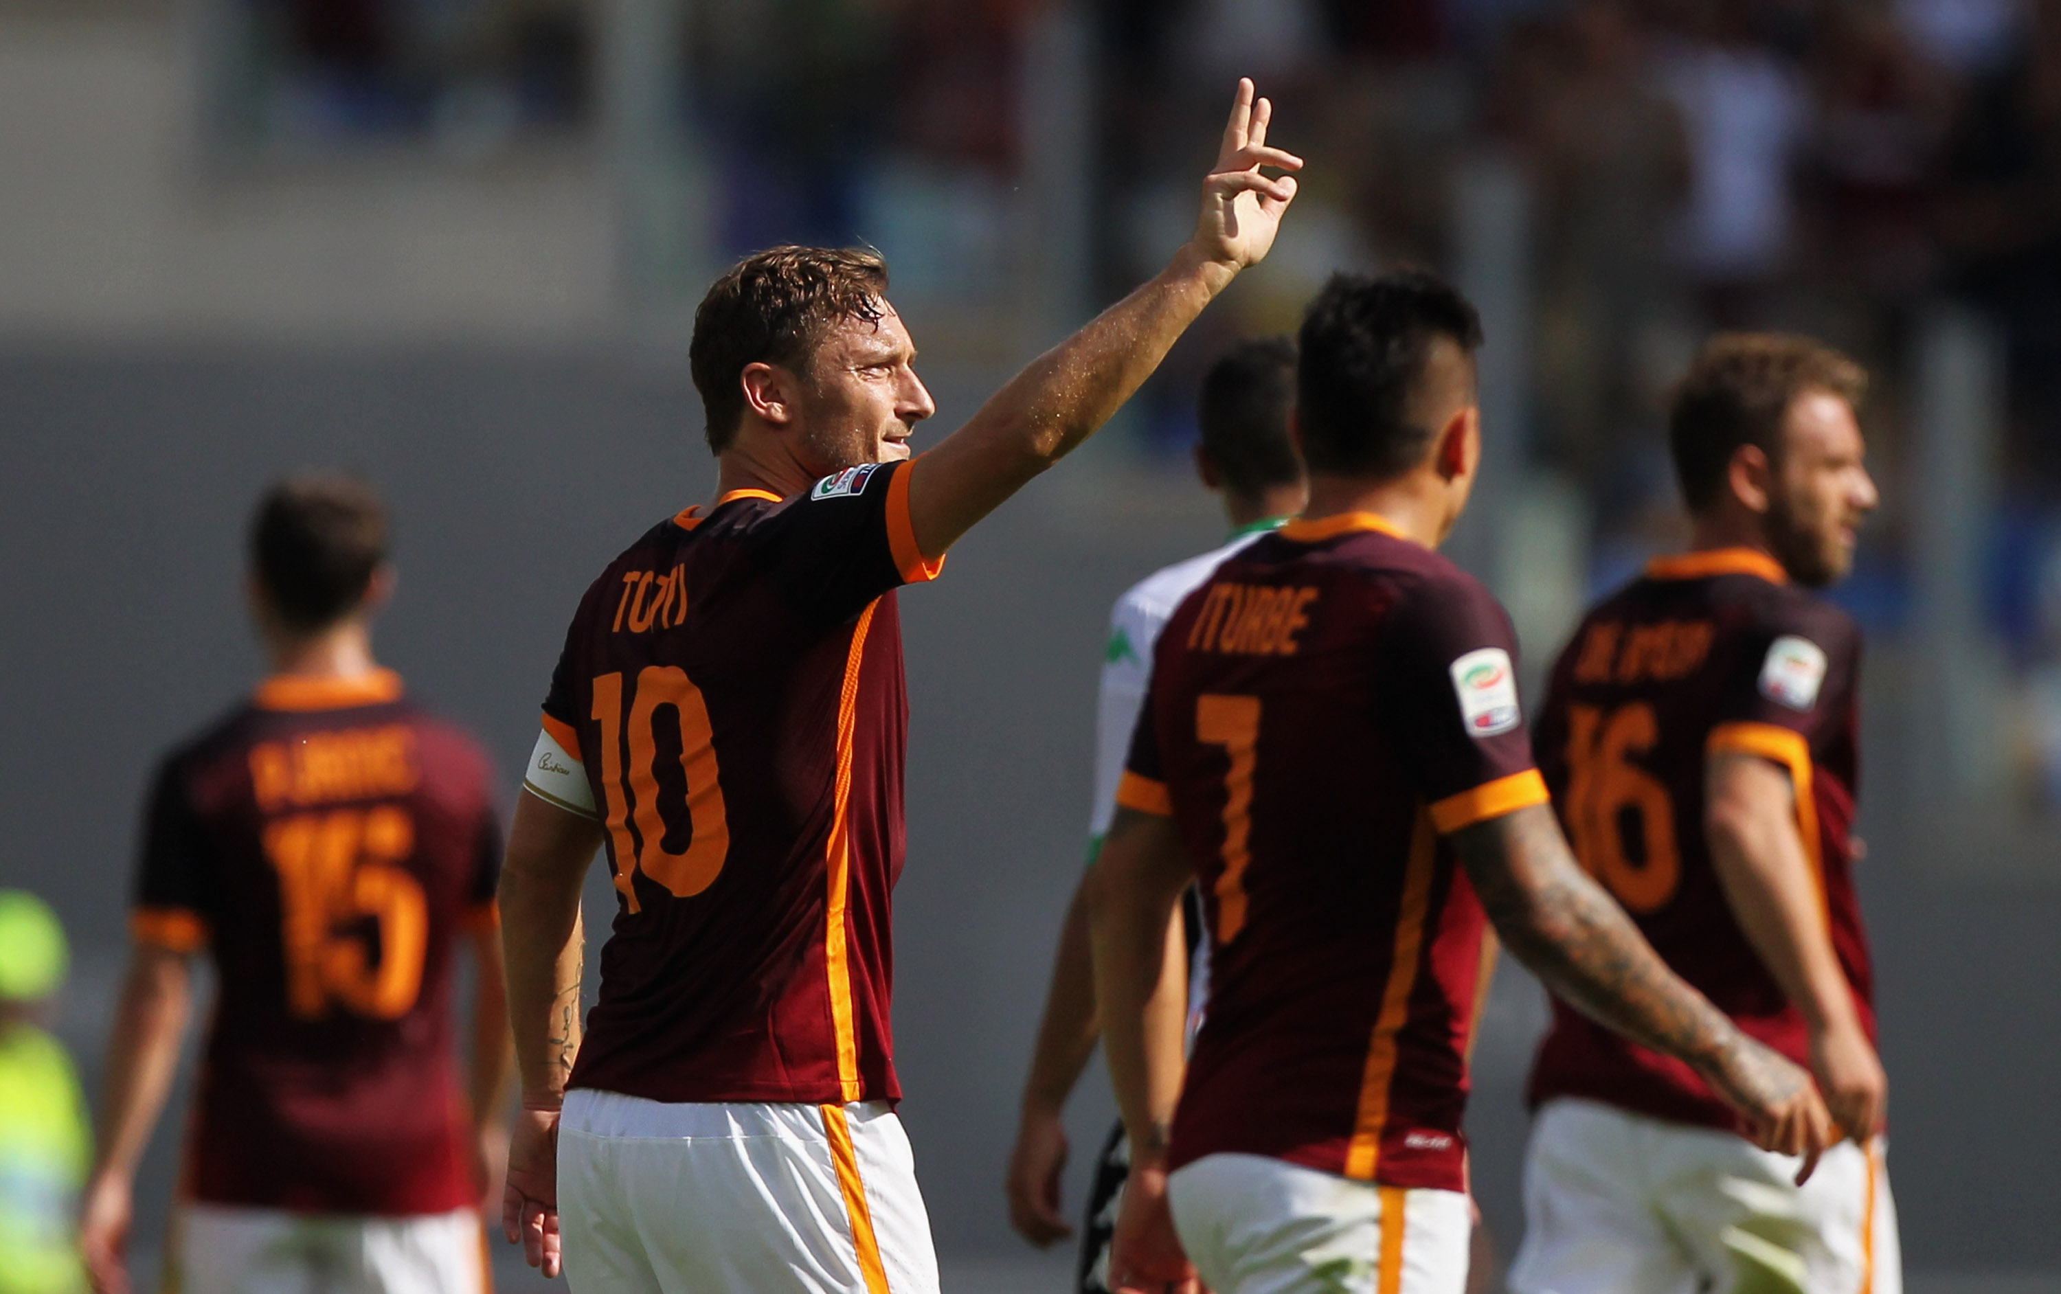
[[[686,779],[686,818],[692,837],[686,849],[666,849],[666,818],[657,808],[660,709],[670,707],[680,740],[680,775]],[[678,666],[645,666],[637,672],[631,701],[629,767],[622,760],[622,676],[594,680],[594,717],[602,725],[602,791],[608,795],[608,839],[616,855],[616,890],[635,913],[637,886],[631,872],[643,872],[676,898],[701,894],[723,872],[730,857],[730,814],[723,808],[721,771],[715,762],[715,734],[701,688]],[[635,804],[635,810],[631,808]],[[631,835],[635,822],[637,835]],[[643,841],[639,845],[639,841]]]

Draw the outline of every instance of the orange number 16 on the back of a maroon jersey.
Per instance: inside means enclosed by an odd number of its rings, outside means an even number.
[[[1630,762],[1659,742],[1653,707],[1645,701],[1614,711],[1570,705],[1566,719],[1566,824],[1575,857],[1624,907],[1657,911],[1682,884],[1682,855],[1667,787]],[[1628,839],[1638,841],[1643,857],[1632,859],[1624,847]]]

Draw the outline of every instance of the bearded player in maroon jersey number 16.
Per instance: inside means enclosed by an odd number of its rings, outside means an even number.
[[[1521,1294],[1902,1288],[1853,888],[1861,633],[1818,593],[1876,507],[1863,387],[1805,338],[1704,346],[1669,414],[1690,550],[1589,612],[1538,725],[1577,857],[1676,975],[1812,1069],[1845,1139],[1799,1187],[1702,1074],[1556,999]]]

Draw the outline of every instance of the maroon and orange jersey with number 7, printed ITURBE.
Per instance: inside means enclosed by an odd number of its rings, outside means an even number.
[[[1171,1166],[1465,1185],[1482,905],[1445,837],[1542,804],[1502,608],[1373,513],[1230,556],[1160,635],[1119,804],[1173,814],[1212,938]]]

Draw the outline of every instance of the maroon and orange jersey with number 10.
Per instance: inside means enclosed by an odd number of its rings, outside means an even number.
[[[940,567],[909,527],[907,464],[868,464],[686,509],[587,589],[544,727],[585,771],[618,898],[571,1086],[901,1098],[892,589]]]

